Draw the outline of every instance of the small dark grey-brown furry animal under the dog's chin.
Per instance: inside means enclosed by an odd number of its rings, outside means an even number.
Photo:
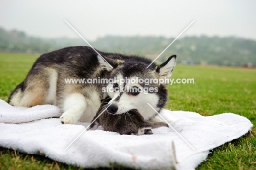
[[[164,122],[145,121],[143,116],[136,109],[130,110],[124,114],[114,115],[107,111],[108,102],[111,100],[109,96],[102,100],[101,107],[98,109],[94,120],[98,115],[102,114],[94,121],[89,130],[96,130],[98,126],[102,126],[104,131],[118,132],[120,134],[153,134],[151,128],[161,126],[168,127]]]

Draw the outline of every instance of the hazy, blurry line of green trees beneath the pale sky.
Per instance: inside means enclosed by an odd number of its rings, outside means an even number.
[[[86,37],[85,37],[86,38]],[[135,54],[154,59],[174,38],[106,36],[90,42],[94,48],[105,52]],[[43,54],[67,46],[87,45],[81,38],[37,38],[22,31],[6,31],[0,27],[0,52]],[[177,39],[158,61],[176,54],[177,62],[184,64],[209,64],[242,66],[256,65],[256,41],[235,37],[190,36]]]

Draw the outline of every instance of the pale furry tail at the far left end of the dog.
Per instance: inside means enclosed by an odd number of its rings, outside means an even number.
[[[9,98],[8,98],[8,103],[11,105],[20,105],[20,100],[23,96],[23,90],[24,90],[24,82],[16,86],[13,92],[11,92]]]

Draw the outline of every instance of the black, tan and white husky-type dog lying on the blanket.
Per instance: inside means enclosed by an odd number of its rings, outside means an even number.
[[[107,95],[112,98],[115,114],[122,114],[137,109],[145,120],[152,120],[167,101],[167,89],[164,84],[149,84],[157,87],[157,92],[147,94],[130,92],[103,92],[103,87],[118,86],[117,81],[109,84],[67,84],[67,78],[169,78],[176,56],[171,56],[160,66],[147,58],[126,56],[98,51],[113,66],[110,67],[92,48],[73,46],[41,55],[34,62],[25,80],[16,86],[9,96],[11,105],[33,107],[38,104],[54,104],[63,111],[61,121],[64,124],[75,124],[78,120],[90,122],[101,105],[101,99]],[[144,84],[123,84],[126,88],[146,87]]]

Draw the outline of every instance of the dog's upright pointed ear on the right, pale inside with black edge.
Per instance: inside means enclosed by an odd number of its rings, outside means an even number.
[[[176,55],[172,55],[167,59],[166,62],[156,67],[155,71],[159,74],[160,79],[170,78],[172,75],[173,68],[176,63]]]

